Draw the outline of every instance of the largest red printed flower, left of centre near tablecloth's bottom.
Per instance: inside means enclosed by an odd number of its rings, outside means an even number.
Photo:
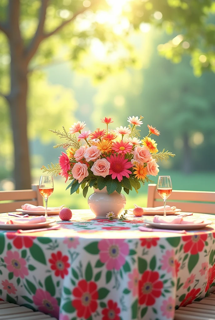
[[[98,306],[97,284],[93,281],[80,280],[72,292],[72,305],[77,310],[77,317],[87,319]]]

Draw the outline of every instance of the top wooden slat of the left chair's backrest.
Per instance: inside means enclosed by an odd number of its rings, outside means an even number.
[[[11,190],[0,191],[0,201],[3,200],[32,200],[36,199],[36,191],[29,190]]]

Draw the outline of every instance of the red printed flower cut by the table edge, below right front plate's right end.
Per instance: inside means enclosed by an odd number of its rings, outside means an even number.
[[[184,252],[190,251],[191,254],[197,254],[203,251],[205,241],[208,235],[194,235],[194,236],[183,236],[182,240],[186,242],[184,245]]]

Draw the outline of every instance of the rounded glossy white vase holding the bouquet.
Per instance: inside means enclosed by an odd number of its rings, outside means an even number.
[[[88,198],[90,210],[98,219],[107,219],[106,214],[110,211],[113,211],[115,216],[118,216],[123,211],[125,204],[126,198],[122,193],[118,194],[118,192],[114,191],[108,195],[106,187],[102,190],[94,189],[94,192]]]

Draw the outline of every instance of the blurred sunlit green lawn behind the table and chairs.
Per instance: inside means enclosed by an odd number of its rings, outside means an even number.
[[[215,191],[215,172],[195,172],[192,174],[184,174],[179,171],[165,171],[161,170],[160,175],[169,174],[172,180],[173,189],[178,190],[195,190],[195,191]],[[33,171],[34,183],[39,182],[40,170]],[[155,179],[153,179],[155,178]],[[152,180],[157,183],[158,177],[151,177]],[[87,209],[87,198],[93,192],[93,189],[89,188],[89,192],[84,199],[82,189],[78,195],[70,195],[70,190],[65,190],[69,182],[65,183],[64,178],[54,177],[54,192],[49,198],[48,205],[55,207],[61,204],[65,204],[70,209]],[[126,209],[133,208],[134,203],[139,206],[145,207],[147,205],[147,184],[141,187],[138,195],[133,190],[129,195],[126,195]]]

